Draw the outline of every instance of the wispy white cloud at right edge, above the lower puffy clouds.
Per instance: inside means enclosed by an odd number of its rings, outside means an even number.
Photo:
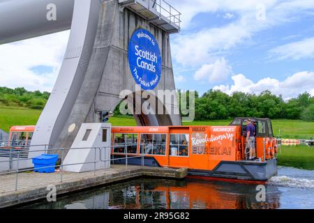
[[[314,58],[314,38],[281,45],[269,51],[272,59],[278,60],[299,60]]]

